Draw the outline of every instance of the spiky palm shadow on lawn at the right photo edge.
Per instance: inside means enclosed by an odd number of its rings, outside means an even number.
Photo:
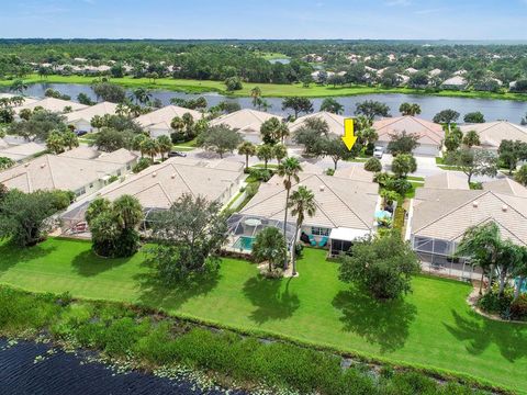
[[[527,326],[523,324],[502,323],[487,319],[470,311],[468,317],[452,311],[456,325],[445,327],[460,341],[469,341],[467,351],[481,354],[492,343],[509,362],[527,356]]]

